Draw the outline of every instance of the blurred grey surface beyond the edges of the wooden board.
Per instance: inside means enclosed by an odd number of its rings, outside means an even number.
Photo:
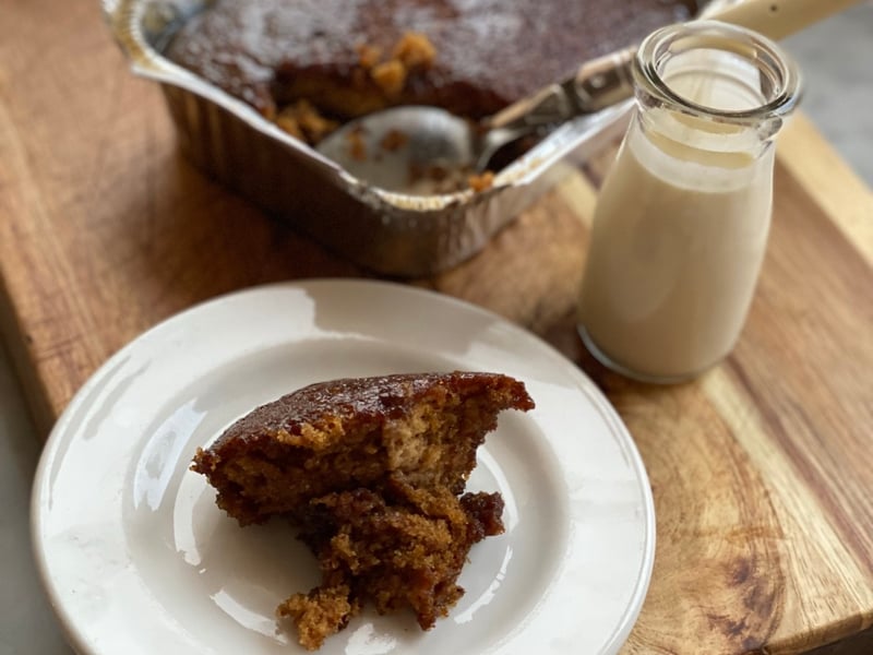
[[[793,36],[784,46],[804,74],[802,110],[873,187],[873,2]],[[64,645],[31,557],[28,503],[40,443],[8,354],[0,347],[0,498],[4,500],[0,512],[0,655],[72,653]]]

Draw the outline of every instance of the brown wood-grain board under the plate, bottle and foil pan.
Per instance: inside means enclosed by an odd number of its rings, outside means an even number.
[[[577,362],[633,434],[657,556],[624,652],[870,653],[873,195],[802,116],[779,144],[774,224],[730,357],[675,386],[598,366],[573,312],[591,160],[473,260],[408,281],[527,326]],[[44,431],[109,355],[179,310],[260,283],[366,271],[179,154],[96,1],[0,20],[0,315]]]

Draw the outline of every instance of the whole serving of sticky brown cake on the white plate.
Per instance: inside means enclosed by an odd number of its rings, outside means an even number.
[[[228,428],[192,468],[241,525],[288,516],[322,584],[278,615],[316,648],[364,602],[409,607],[422,629],[457,602],[473,544],[503,531],[498,493],[464,492],[476,450],[524,384],[494,373],[345,379],[307,386]]]

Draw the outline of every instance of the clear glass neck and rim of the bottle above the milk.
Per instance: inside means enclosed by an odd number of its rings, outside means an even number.
[[[725,167],[769,150],[800,91],[778,46],[711,21],[651,34],[637,50],[634,80],[638,128],[654,144]]]

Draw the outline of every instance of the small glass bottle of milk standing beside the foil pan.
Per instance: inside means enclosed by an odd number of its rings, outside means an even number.
[[[730,353],[764,258],[774,139],[799,97],[770,40],[665,27],[633,63],[636,111],[600,191],[578,327],[601,362],[678,382]]]

